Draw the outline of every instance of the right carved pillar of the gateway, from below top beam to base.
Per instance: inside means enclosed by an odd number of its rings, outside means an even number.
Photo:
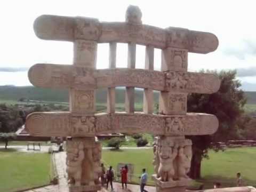
[[[181,75],[187,71],[188,51],[167,47],[162,51],[161,70],[165,73],[165,86],[185,89],[186,83],[182,82]],[[173,75],[174,74],[174,75]],[[159,96],[159,113],[167,117],[170,115],[186,115],[187,93],[161,91]],[[183,129],[180,119],[174,119],[170,126],[177,130]],[[175,135],[175,133],[173,133]],[[185,192],[189,184],[187,173],[190,169],[192,157],[191,140],[184,135],[156,138],[154,146],[153,179],[156,182],[157,192]]]

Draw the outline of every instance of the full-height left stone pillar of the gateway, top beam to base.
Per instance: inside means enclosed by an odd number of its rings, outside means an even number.
[[[95,78],[98,21],[76,20],[73,74],[76,88],[70,88],[71,129],[94,129]],[[91,69],[91,70],[90,70]],[[86,77],[87,85],[84,84]],[[84,90],[86,86],[86,90]],[[88,89],[89,88],[89,89]],[[89,135],[90,136],[90,135]],[[67,173],[70,192],[96,192],[101,189],[99,174],[101,146],[91,137],[73,137],[67,142]]]

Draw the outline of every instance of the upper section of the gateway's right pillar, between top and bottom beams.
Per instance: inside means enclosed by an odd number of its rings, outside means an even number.
[[[187,81],[186,73],[175,73],[172,71],[186,72],[188,66],[188,51],[167,47],[162,51],[161,70],[165,72],[166,87],[172,89],[186,89]],[[187,79],[189,81],[189,79]],[[187,93],[161,91],[159,96],[159,113],[165,115],[186,114],[187,113]]]

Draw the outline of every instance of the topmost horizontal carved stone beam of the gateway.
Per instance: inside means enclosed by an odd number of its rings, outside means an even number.
[[[57,41],[86,39],[98,43],[129,43],[151,45],[158,49],[176,47],[194,53],[209,53],[217,49],[218,38],[211,33],[183,28],[166,29],[129,22],[99,22],[85,17],[41,15],[34,22],[38,38]]]

